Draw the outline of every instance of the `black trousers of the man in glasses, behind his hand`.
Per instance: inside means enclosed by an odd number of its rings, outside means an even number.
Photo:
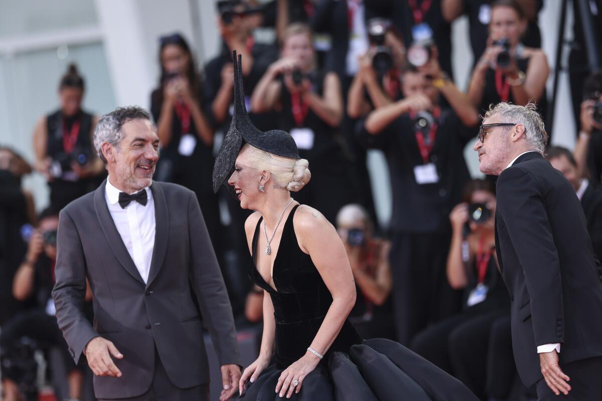
[[[562,352],[562,347],[560,348]],[[589,358],[561,365],[560,369],[571,378],[568,396],[556,396],[544,379],[537,382],[538,401],[600,401],[602,400],[602,357]]]

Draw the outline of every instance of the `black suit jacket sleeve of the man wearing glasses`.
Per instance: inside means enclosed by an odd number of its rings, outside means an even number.
[[[497,181],[497,207],[523,268],[535,343],[562,343],[564,326],[557,327],[564,320],[560,262],[538,183],[523,168],[504,170]]]

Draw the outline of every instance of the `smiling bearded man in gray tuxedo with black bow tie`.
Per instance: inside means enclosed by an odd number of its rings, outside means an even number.
[[[94,145],[108,179],[67,205],[58,227],[52,295],[70,354],[85,355],[101,400],[208,400],[194,295],[229,399],[241,375],[234,319],[194,192],[152,182],[159,138],[144,109],[102,117]],[[82,310],[86,279],[94,325]]]

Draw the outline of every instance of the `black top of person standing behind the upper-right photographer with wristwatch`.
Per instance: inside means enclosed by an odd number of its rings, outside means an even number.
[[[473,49],[473,65],[483,55],[489,37],[489,21],[491,20],[491,4],[494,0],[466,0],[465,13],[470,26],[470,46]],[[537,11],[544,7],[542,0],[537,1]],[[541,47],[541,32],[538,19],[529,20],[527,31],[521,39],[527,47]]]

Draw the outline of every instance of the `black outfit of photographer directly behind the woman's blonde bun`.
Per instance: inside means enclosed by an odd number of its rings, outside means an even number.
[[[301,77],[299,77],[301,78]],[[312,91],[322,96],[324,75],[312,73]],[[289,132],[297,141],[299,156],[307,159],[312,176],[303,191],[295,194],[299,203],[315,207],[335,224],[341,207],[358,202],[358,189],[353,181],[353,164],[338,128],[326,124],[303,103],[302,96],[291,94],[281,78],[282,111],[278,112],[278,128]],[[312,136],[312,146],[305,147],[298,136]]]

